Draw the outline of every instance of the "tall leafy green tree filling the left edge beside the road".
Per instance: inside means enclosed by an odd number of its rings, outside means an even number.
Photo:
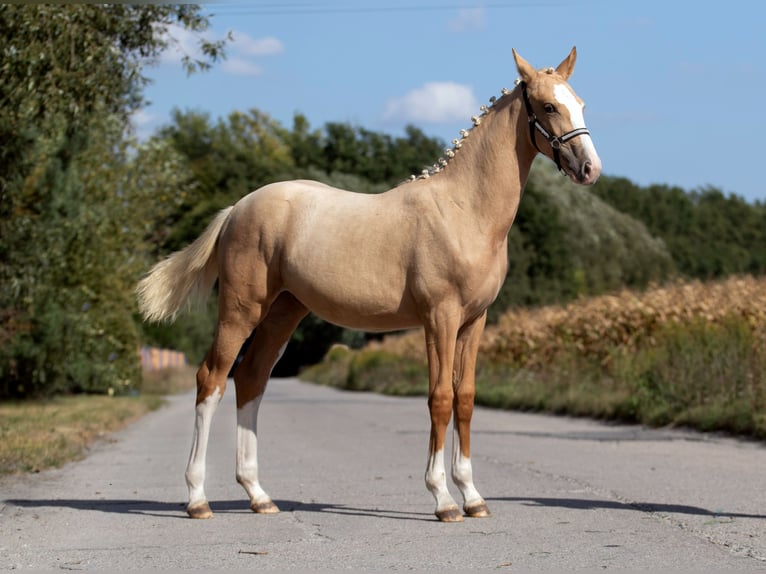
[[[125,134],[142,66],[173,25],[208,21],[192,5],[0,5],[0,396],[138,380],[131,292],[146,206],[179,182],[169,150],[136,150]],[[222,44],[201,48],[187,70]]]

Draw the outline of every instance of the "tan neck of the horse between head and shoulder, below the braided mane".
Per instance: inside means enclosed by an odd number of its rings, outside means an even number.
[[[497,240],[508,235],[536,155],[519,93],[516,89],[498,100],[433,176],[443,180],[449,200],[470,210],[484,233]]]

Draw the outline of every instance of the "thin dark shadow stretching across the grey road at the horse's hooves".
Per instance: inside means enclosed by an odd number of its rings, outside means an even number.
[[[727,512],[725,510],[710,510],[699,506],[685,504],[668,504],[658,502],[621,502],[618,500],[594,500],[585,498],[555,498],[555,497],[494,497],[487,502],[504,502],[525,506],[540,506],[545,508],[562,508],[567,510],[624,510],[643,513],[685,514],[688,516],[703,516],[710,519],[726,520],[735,518],[751,518],[766,520],[766,514]],[[6,504],[20,508],[70,508],[73,510],[106,512],[114,514],[135,514],[155,516],[167,519],[187,519],[185,503],[164,502],[156,500],[131,499],[8,499]],[[374,517],[390,520],[418,520],[433,522],[436,519],[428,512],[401,511],[387,508],[365,508],[345,504],[329,504],[321,502],[301,502],[295,500],[275,500],[281,512],[301,512],[317,514],[338,514],[351,517]],[[211,501],[210,506],[217,514],[250,514],[247,500],[218,500]]]

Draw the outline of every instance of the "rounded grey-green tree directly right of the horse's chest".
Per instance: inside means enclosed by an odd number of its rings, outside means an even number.
[[[665,244],[643,223],[563,178],[546,160],[533,165],[508,245],[508,276],[490,321],[509,307],[643,288],[674,273]]]

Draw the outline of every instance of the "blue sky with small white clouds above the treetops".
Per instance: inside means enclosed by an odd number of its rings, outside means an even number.
[[[147,70],[146,135],[173,108],[257,108],[285,127],[350,122],[446,142],[516,69],[577,46],[570,80],[604,173],[766,201],[766,3],[657,0],[295,0],[205,4],[226,61],[188,77],[177,50]],[[178,46],[193,49],[175,31]],[[437,158],[434,158],[436,160]]]

